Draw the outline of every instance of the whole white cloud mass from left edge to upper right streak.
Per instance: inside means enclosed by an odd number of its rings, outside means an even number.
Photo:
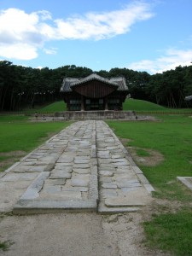
[[[75,15],[66,20],[53,20],[46,10],[31,14],[20,9],[1,10],[0,56],[30,60],[38,56],[38,49],[44,49],[47,41],[112,38],[129,32],[133,24],[152,16],[150,5],[144,2],[134,2],[111,12]],[[50,49],[44,52],[50,54]]]

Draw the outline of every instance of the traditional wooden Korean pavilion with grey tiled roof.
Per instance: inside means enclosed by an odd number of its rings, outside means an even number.
[[[86,78],[65,78],[61,94],[68,111],[122,110],[128,94],[125,78],[105,79],[96,73]]]

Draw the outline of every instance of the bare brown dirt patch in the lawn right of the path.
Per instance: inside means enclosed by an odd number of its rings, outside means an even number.
[[[164,160],[163,154],[160,154],[159,151],[148,149],[148,148],[133,148],[128,147],[127,148],[129,153],[131,154],[133,160],[136,161],[137,164],[140,166],[157,166]],[[137,150],[143,149],[146,151],[149,155],[148,156],[139,156],[137,155]]]

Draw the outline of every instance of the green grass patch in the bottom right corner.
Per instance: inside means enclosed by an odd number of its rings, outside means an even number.
[[[143,225],[150,247],[156,247],[158,241],[160,250],[178,256],[192,255],[192,211],[161,214]]]

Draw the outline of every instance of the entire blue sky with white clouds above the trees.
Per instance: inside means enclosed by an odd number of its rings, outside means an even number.
[[[192,0],[0,0],[0,61],[162,73],[192,62]]]

